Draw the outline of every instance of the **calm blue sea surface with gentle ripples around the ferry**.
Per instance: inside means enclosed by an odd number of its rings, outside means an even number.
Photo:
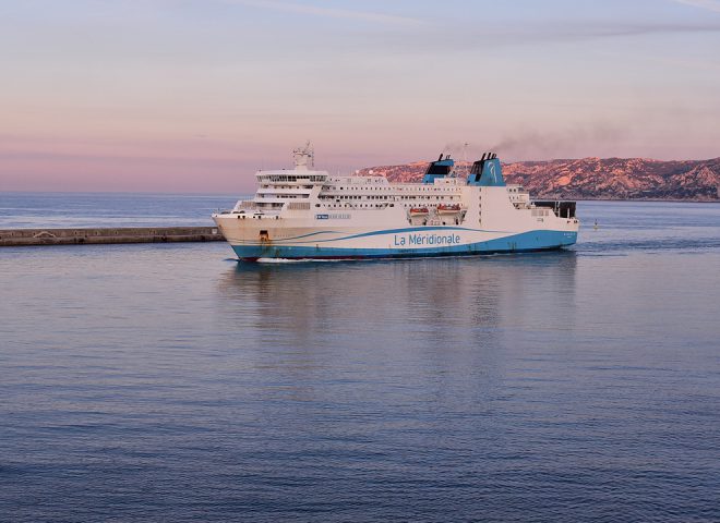
[[[0,194],[0,228],[233,199]],[[0,248],[0,521],[720,521],[720,205],[578,211],[552,254]]]

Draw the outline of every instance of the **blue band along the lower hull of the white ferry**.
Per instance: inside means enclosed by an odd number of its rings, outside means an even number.
[[[267,243],[263,245],[232,245],[240,259],[257,258],[407,258],[412,256],[470,256],[491,253],[523,253],[547,251],[573,245],[577,232],[529,231],[488,242],[465,245],[444,245],[424,248],[345,248],[329,246],[296,246]]]

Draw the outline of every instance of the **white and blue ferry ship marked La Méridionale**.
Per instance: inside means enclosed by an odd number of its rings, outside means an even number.
[[[293,158],[293,169],[257,171],[252,199],[213,215],[239,259],[461,256],[577,241],[575,202],[532,200],[505,183],[492,153],[466,173],[440,155],[421,183],[317,171],[310,144]]]

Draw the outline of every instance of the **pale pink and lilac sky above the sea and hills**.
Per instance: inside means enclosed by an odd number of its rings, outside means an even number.
[[[720,156],[720,0],[0,0],[0,192]]]

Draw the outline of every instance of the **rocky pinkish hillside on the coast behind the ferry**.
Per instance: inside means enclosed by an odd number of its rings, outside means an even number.
[[[461,163],[461,162],[460,162]],[[425,161],[362,169],[389,181],[420,181]],[[465,166],[459,166],[460,168]],[[645,158],[503,163],[507,183],[519,183],[537,198],[720,200],[720,158],[660,161]]]

